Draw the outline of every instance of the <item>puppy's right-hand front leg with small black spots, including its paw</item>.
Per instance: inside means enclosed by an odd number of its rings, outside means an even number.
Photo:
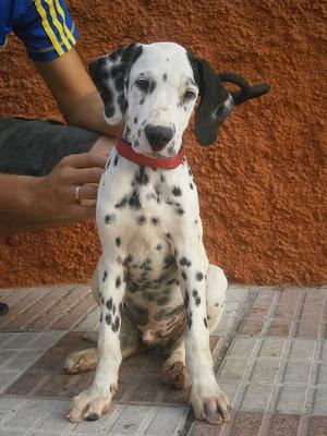
[[[189,320],[185,350],[186,367],[192,385],[191,402],[197,419],[211,424],[228,422],[230,405],[227,396],[216,382],[209,348],[206,313],[208,259],[202,240],[195,240],[190,234],[178,237],[175,247]]]

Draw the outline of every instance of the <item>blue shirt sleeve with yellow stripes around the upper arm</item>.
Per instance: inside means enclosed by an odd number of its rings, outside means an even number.
[[[13,25],[34,61],[56,59],[76,44],[77,29],[63,0],[28,1],[28,8]]]

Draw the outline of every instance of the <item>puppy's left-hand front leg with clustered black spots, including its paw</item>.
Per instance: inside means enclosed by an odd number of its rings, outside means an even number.
[[[101,306],[98,364],[90,388],[73,399],[68,414],[71,422],[98,420],[102,413],[109,411],[117,391],[118,371],[122,360],[119,340],[120,312],[125,291],[122,265],[102,257],[98,267],[98,284]]]

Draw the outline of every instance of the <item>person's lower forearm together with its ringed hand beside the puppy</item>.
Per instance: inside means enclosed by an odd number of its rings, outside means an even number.
[[[45,177],[0,173],[0,238],[94,217],[97,184],[112,143],[101,136],[89,153],[66,156]],[[92,205],[78,204],[76,185],[83,203]]]

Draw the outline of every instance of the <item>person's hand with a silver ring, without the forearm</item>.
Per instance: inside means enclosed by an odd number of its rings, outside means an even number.
[[[60,160],[52,171],[39,178],[37,215],[40,220],[78,221],[95,216],[98,183],[108,153],[83,153]],[[76,199],[76,186],[80,187]]]

